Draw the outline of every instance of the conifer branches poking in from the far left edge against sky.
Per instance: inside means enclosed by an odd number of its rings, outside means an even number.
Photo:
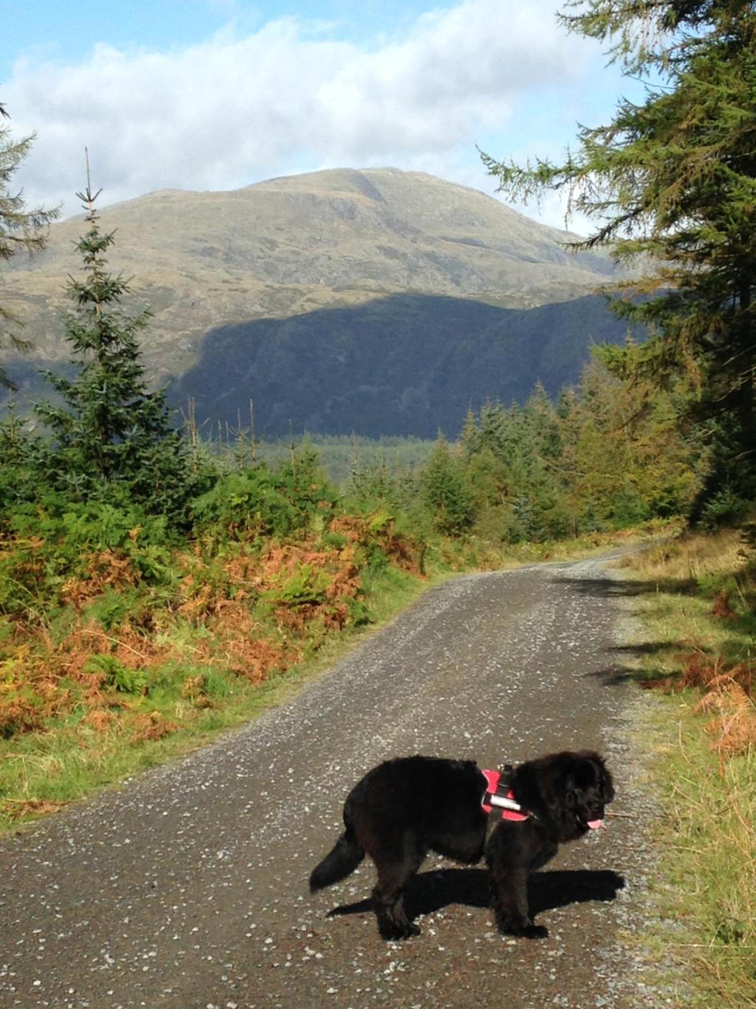
[[[0,104],[0,123],[8,113]],[[7,261],[18,252],[36,252],[44,247],[46,227],[57,217],[56,210],[35,207],[28,210],[23,193],[13,193],[9,187],[13,174],[27,156],[33,143],[33,135],[22,140],[13,140],[10,130],[0,125],[0,260]],[[0,347],[9,344],[15,350],[28,347],[28,341],[18,335],[18,320],[0,304]],[[0,367],[0,386],[13,388],[14,385]]]

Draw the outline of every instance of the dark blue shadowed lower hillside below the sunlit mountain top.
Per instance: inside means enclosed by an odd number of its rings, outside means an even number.
[[[354,309],[224,326],[170,388],[200,421],[237,424],[255,404],[257,433],[455,436],[469,407],[524,401],[575,381],[593,341],[626,325],[603,298],[529,311],[466,299],[402,295]]]

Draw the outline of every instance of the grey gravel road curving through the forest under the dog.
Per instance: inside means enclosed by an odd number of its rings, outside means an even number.
[[[652,856],[629,743],[644,701],[618,675],[622,596],[602,560],[460,577],[284,706],[6,838],[0,1006],[657,1005],[621,944],[644,925]],[[308,895],[346,793],[379,761],[495,767],[584,747],[607,756],[622,815],[533,878],[548,938],[500,936],[483,870],[439,859],[410,888],[422,934],[407,942],[378,937],[368,861]]]

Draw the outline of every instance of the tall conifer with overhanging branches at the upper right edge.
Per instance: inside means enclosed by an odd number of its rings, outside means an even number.
[[[687,376],[682,414],[713,448],[713,487],[756,488],[756,4],[744,0],[573,0],[560,19],[610,44],[646,84],[605,126],[581,127],[561,163],[483,155],[500,191],[527,201],[569,195],[608,244],[645,264],[614,311],[647,325],[645,344],[606,360],[621,376]]]

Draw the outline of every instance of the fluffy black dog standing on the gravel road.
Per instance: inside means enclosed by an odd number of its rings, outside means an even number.
[[[560,844],[601,824],[604,806],[614,798],[612,776],[604,760],[589,751],[519,765],[507,788],[521,813],[513,814],[516,820],[501,819],[494,807],[498,822],[486,842],[488,788],[473,761],[402,757],[380,764],[350,792],[346,830],[312,870],[310,891],[349,876],[367,853],[378,870],[373,890],[378,930],[385,939],[408,938],[420,929],[407,918],[402,895],[428,851],[467,864],[485,854],[500,931],[544,937],[547,930],[534,925],[529,914],[528,873],[552,859]]]

